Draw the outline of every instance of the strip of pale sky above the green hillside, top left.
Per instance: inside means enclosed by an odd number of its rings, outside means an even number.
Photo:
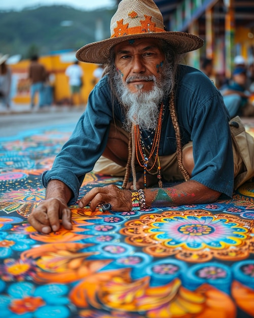
[[[67,5],[76,9],[112,8],[116,0],[0,0],[0,10],[22,10],[37,5]]]

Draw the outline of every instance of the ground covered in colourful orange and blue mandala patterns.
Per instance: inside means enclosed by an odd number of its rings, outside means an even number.
[[[133,15],[133,13],[131,14]],[[71,231],[27,222],[72,129],[0,144],[1,318],[254,317],[254,183],[212,204],[118,213],[70,207]],[[89,173],[80,197],[119,178]]]

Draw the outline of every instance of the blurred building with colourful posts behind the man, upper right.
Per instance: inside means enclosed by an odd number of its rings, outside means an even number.
[[[202,49],[188,54],[188,63],[200,68],[202,56],[213,60],[218,78],[230,78],[234,58],[247,64],[254,55],[253,0],[155,0],[167,30],[184,31],[201,37]]]

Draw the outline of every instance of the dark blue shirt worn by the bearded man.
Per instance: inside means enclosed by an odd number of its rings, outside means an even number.
[[[191,180],[232,196],[234,164],[229,129],[229,114],[221,93],[200,71],[180,65],[175,85],[175,106],[182,143],[193,141],[195,167]],[[164,102],[159,155],[176,151],[175,132],[169,114],[169,99]],[[121,106],[112,98],[107,76],[91,91],[85,112],[80,117],[69,140],[56,156],[53,167],[42,176],[46,187],[51,179],[64,182],[78,200],[79,189],[95,162],[103,153],[110,122],[124,121]],[[144,132],[146,133],[146,132]]]

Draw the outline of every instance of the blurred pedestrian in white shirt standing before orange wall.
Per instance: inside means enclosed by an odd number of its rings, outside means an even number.
[[[70,105],[74,105],[75,95],[78,95],[79,105],[82,105],[81,88],[83,86],[83,70],[79,66],[78,60],[67,67],[65,75],[69,79]]]

